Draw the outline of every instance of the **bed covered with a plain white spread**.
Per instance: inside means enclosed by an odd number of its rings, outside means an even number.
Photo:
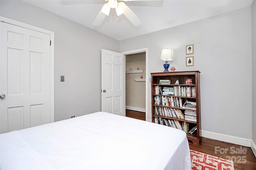
[[[186,133],[106,112],[0,135],[0,169],[191,170]]]

